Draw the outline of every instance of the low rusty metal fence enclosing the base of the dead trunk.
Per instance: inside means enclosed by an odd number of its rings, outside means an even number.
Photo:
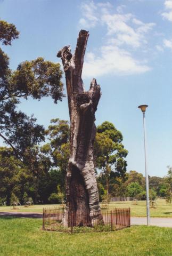
[[[43,230],[63,233],[115,231],[130,227],[130,208],[104,208],[101,213],[65,213],[64,208],[43,209]]]

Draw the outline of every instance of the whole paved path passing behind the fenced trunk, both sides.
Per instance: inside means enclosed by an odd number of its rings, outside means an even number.
[[[42,218],[38,212],[0,212],[0,217]],[[146,225],[146,217],[131,217],[131,225]],[[151,218],[151,226],[172,228],[172,218]]]

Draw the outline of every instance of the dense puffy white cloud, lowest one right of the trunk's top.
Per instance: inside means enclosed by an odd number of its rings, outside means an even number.
[[[90,52],[86,54],[83,67],[84,77],[96,77],[108,74],[131,75],[149,71],[150,67],[135,60],[127,51],[112,45],[102,46],[100,56]]]

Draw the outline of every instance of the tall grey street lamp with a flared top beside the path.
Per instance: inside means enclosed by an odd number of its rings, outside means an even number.
[[[147,212],[147,226],[150,225],[150,213],[149,213],[149,179],[147,172],[147,163],[146,163],[146,129],[145,129],[145,111],[148,105],[138,106],[143,113],[143,130],[144,130],[144,159],[145,159],[145,177],[146,177],[146,212]]]

